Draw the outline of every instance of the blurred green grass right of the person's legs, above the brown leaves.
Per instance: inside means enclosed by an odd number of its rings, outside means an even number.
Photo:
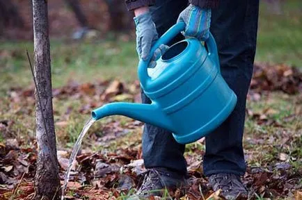
[[[302,2],[284,1],[281,15],[260,6],[256,60],[302,67]]]

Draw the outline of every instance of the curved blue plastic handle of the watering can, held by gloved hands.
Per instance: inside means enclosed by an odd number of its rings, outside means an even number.
[[[184,28],[186,28],[186,24],[184,24],[184,22],[178,22],[177,24],[173,25],[171,28],[168,29],[168,31],[166,31],[166,33],[164,33],[164,35],[161,36],[161,38],[159,38],[159,40],[157,40],[157,42],[155,42],[155,44],[150,50],[150,54],[147,60],[139,60],[138,78],[141,81],[141,86],[143,89],[146,87],[146,85],[148,85],[148,82],[150,82],[151,80],[150,76],[148,75],[147,69],[150,60],[154,54],[154,51],[159,48],[161,44],[168,44],[168,42],[175,38],[178,33],[184,31]],[[218,72],[220,72],[216,42],[211,33],[209,33],[209,38],[205,41],[205,43],[207,44],[208,56],[216,63],[216,67],[218,67]]]

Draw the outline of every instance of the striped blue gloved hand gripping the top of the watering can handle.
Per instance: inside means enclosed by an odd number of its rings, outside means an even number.
[[[186,24],[186,28],[182,32],[184,36],[205,41],[209,38],[211,9],[199,8],[190,4],[180,13],[177,22],[184,22]]]

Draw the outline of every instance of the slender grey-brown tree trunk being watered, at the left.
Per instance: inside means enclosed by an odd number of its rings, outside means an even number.
[[[52,200],[60,198],[61,184],[58,176],[52,109],[47,0],[33,0],[33,40],[37,83],[35,115],[38,143],[35,199]]]

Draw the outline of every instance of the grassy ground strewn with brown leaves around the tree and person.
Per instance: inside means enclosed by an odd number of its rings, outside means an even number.
[[[302,191],[302,4],[285,1],[282,10],[276,14],[266,3],[261,5],[244,134],[248,169],[243,178],[251,199],[293,199],[295,195],[299,199]],[[116,37],[81,42],[51,39],[61,178],[93,108],[112,101],[140,101],[133,35]],[[31,199],[33,194],[35,100],[26,58],[26,49],[31,53],[32,46],[28,40],[0,43],[0,199]],[[95,122],[77,156],[68,198],[125,199],[132,194],[136,175],[144,170],[141,126],[127,117]],[[214,192],[202,174],[204,144],[200,140],[186,146],[191,177],[186,195],[180,190],[166,195],[207,199]]]

